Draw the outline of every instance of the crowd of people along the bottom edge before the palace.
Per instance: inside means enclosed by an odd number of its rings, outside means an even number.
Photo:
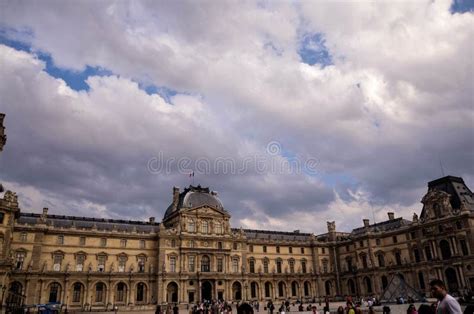
[[[474,305],[467,305],[464,313],[461,310],[459,302],[447,293],[447,288],[444,282],[441,280],[433,280],[430,282],[431,296],[436,298],[437,301],[432,304],[423,303],[417,309],[413,304],[415,300],[407,298],[406,302],[403,297],[397,299],[398,304],[409,304],[407,308],[407,314],[474,314]],[[314,302],[315,300],[313,300]],[[421,300],[426,302],[426,299]],[[325,305],[322,306],[321,299],[319,300],[319,308],[315,302],[304,304],[302,301],[296,303],[290,303],[286,300],[281,304],[274,304],[273,301],[268,301],[265,304],[264,311],[267,314],[286,314],[290,312],[291,305],[297,308],[299,312],[312,312],[312,314],[331,314],[329,308],[329,300],[325,299]],[[380,306],[380,301],[375,297],[355,298],[348,297],[346,300],[346,306],[339,306],[335,314],[375,314],[375,306]],[[242,302],[231,304],[223,300],[205,300],[201,303],[195,304],[189,308],[189,314],[231,314],[233,306],[237,310],[237,314],[253,314],[254,312],[260,311],[260,303],[257,301]],[[380,312],[380,309],[378,309]],[[391,309],[389,305],[382,307],[383,314],[390,314]],[[179,314],[179,308],[177,304],[168,304],[166,308],[158,306],[155,314]]]

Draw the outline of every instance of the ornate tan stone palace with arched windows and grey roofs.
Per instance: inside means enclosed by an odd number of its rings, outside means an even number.
[[[474,288],[474,201],[461,178],[428,184],[423,210],[338,232],[235,229],[216,193],[173,189],[161,223],[23,213],[0,199],[3,306],[153,309],[201,299],[313,299],[381,295],[392,278],[428,292]]]

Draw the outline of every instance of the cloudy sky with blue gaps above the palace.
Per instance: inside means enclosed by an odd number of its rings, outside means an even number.
[[[315,234],[474,188],[470,1],[0,0],[0,182],[23,212]],[[194,173],[190,177],[190,173]]]

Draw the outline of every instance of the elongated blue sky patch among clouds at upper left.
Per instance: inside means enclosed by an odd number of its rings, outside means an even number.
[[[82,71],[74,71],[70,69],[60,68],[54,65],[53,58],[49,53],[42,51],[33,51],[31,45],[19,41],[10,39],[8,36],[8,31],[0,29],[0,44],[9,46],[19,51],[25,51],[28,53],[34,52],[38,59],[42,60],[46,64],[45,71],[54,78],[62,79],[66,84],[75,91],[89,90],[89,85],[87,85],[86,80],[89,76],[108,76],[112,75],[112,71],[104,69],[102,67],[92,67],[86,66]]]

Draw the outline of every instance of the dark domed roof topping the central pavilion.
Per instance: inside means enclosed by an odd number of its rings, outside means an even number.
[[[173,202],[168,207],[164,219],[181,208],[196,208],[209,206],[215,209],[224,210],[221,200],[217,197],[217,193],[210,191],[209,188],[203,188],[200,185],[185,188],[179,193],[178,188],[173,190]]]

